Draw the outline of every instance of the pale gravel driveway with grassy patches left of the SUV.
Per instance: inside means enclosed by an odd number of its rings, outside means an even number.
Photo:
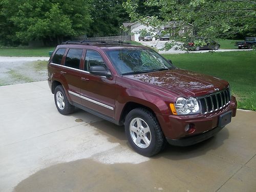
[[[49,57],[0,57],[0,86],[46,80],[48,59]]]

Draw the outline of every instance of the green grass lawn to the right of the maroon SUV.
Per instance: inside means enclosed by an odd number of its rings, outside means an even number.
[[[174,65],[225,79],[238,108],[256,111],[256,51],[165,54]]]

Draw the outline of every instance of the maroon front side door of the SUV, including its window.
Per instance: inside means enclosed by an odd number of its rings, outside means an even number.
[[[114,118],[115,81],[112,78],[90,74],[89,69],[92,66],[107,68],[98,52],[87,50],[83,72],[81,72],[81,103],[91,110]]]

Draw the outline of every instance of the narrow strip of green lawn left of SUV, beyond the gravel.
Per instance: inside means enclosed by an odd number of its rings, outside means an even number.
[[[49,57],[49,51],[53,51],[55,47],[43,48],[0,48],[0,56],[16,56],[16,57]]]

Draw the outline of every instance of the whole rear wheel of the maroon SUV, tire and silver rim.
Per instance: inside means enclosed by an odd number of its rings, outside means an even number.
[[[70,104],[62,86],[57,86],[54,90],[54,101],[57,110],[62,115],[68,115],[74,112],[75,107]]]

